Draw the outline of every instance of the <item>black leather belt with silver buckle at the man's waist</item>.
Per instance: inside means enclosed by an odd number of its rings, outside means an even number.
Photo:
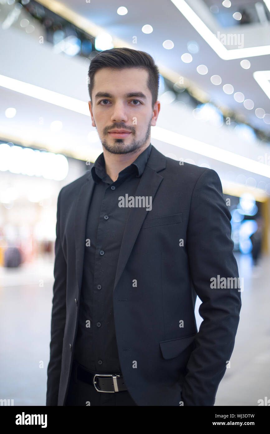
[[[94,385],[98,392],[121,392],[128,390],[122,374],[96,374],[73,361],[74,374],[79,380]]]

